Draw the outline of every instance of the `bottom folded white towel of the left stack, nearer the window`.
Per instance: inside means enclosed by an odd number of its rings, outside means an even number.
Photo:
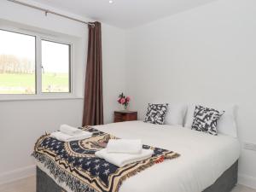
[[[50,134],[50,137],[54,137],[62,142],[73,142],[78,140],[83,140],[92,136],[92,133],[88,131],[83,131],[81,134],[77,134],[75,136],[69,136],[61,131],[56,131]]]

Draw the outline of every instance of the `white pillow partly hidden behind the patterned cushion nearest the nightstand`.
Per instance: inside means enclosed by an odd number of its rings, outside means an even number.
[[[182,125],[187,111],[187,106],[184,104],[170,104],[166,114],[166,125]]]

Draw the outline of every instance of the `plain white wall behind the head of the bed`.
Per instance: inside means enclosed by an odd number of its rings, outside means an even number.
[[[235,103],[242,142],[256,143],[256,1],[219,0],[129,32],[131,107]],[[240,182],[256,188],[256,153],[242,150]]]

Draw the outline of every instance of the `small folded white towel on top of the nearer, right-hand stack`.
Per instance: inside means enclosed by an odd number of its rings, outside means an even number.
[[[108,153],[140,154],[143,150],[141,140],[110,139],[107,145]]]

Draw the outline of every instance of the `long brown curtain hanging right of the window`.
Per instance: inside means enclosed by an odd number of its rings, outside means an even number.
[[[89,25],[88,55],[84,86],[83,125],[103,124],[102,27]]]

